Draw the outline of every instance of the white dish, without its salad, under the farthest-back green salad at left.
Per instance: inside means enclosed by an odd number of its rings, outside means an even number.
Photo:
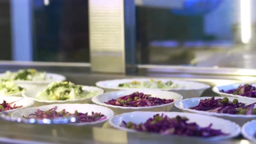
[[[5,73],[1,73],[0,77],[4,77]],[[64,75],[54,74],[54,73],[46,73],[46,80],[14,80],[17,84],[48,84],[53,81],[64,81],[66,77]]]

